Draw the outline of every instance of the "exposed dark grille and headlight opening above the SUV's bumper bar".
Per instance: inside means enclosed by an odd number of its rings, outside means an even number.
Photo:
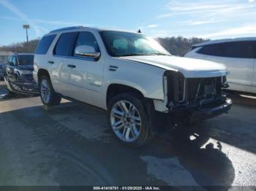
[[[166,71],[165,89],[167,108],[170,112],[193,109],[223,98],[222,87],[227,85],[224,77],[184,78],[176,71]]]

